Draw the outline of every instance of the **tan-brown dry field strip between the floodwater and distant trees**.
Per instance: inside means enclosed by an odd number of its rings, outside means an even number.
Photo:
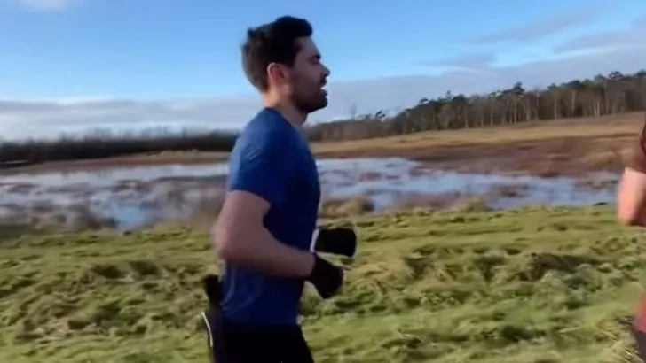
[[[517,172],[554,176],[599,170],[618,171],[621,168],[621,154],[634,141],[643,122],[643,112],[634,112],[598,119],[536,121],[516,126],[314,143],[312,150],[319,158],[401,157],[421,161],[430,168],[476,173]],[[227,159],[226,152],[162,152],[51,162],[15,167],[4,173],[208,164]]]

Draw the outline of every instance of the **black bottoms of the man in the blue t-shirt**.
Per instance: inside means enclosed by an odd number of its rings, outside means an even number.
[[[202,313],[216,363],[314,363],[300,327],[252,327],[225,321],[219,307]]]

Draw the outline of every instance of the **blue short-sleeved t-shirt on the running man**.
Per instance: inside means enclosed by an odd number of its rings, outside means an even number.
[[[316,161],[305,136],[265,108],[242,130],[229,165],[229,190],[245,190],[271,205],[264,227],[280,243],[308,251],[319,214]],[[227,321],[293,325],[303,280],[225,266],[222,310]]]

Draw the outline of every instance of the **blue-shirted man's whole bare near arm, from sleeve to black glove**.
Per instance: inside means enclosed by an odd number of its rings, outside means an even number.
[[[227,193],[222,211],[212,229],[218,255],[227,262],[248,266],[266,274],[306,278],[315,257],[277,241],[264,228],[270,205],[246,191]]]

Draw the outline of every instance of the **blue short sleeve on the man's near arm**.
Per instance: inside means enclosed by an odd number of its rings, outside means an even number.
[[[240,140],[232,155],[229,189],[244,190],[262,197],[270,205],[280,205],[289,189],[292,176],[288,140],[281,133],[262,133]]]

